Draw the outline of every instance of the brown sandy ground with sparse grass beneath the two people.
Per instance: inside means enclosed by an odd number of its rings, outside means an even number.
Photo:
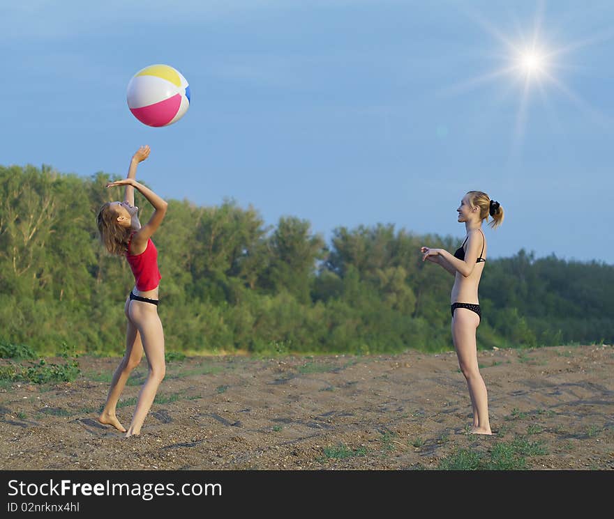
[[[96,420],[119,359],[83,356],[73,382],[0,389],[0,469],[437,470],[514,442],[531,447],[527,470],[614,469],[613,346],[478,357],[495,436],[468,434],[454,352],[409,350],[169,362],[142,435],[126,439]],[[146,375],[143,360],[121,398],[124,426]]]

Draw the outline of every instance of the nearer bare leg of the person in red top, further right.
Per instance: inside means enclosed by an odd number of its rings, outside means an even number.
[[[143,349],[149,364],[147,380],[139,393],[137,408],[126,432],[126,437],[139,435],[147,413],[156,398],[166,366],[164,360],[164,331],[155,305],[140,301],[130,302],[130,318],[137,323]]]

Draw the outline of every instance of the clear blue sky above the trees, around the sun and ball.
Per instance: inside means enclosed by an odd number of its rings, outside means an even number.
[[[536,34],[548,76],[497,74]],[[4,166],[123,175],[149,144],[160,195],[327,240],[378,222],[460,240],[479,189],[506,210],[491,258],[614,264],[611,1],[22,0],[0,4],[0,52]],[[190,83],[169,127],[126,104],[153,63]]]

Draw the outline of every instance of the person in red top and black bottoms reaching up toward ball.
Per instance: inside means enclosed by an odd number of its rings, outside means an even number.
[[[135,180],[137,165],[149,157],[149,151],[149,146],[141,146],[130,161],[128,177],[107,184],[107,187],[126,186],[123,202],[107,202],[98,212],[100,239],[111,254],[126,256],[135,277],[135,288],[130,291],[124,307],[128,319],[126,355],[115,370],[105,408],[98,417],[100,423],[114,426],[126,433],[126,437],[140,435],[166,369],[164,332],[158,317],[158,251],[151,241],[151,235],[160,226],[166,214],[167,203]],[[137,216],[139,208],[134,206],[135,187],[155,209],[149,222],[143,226]],[[143,352],[149,364],[149,374],[139,394],[132,422],[126,431],[115,415],[115,408],[128,376],[141,362]]]

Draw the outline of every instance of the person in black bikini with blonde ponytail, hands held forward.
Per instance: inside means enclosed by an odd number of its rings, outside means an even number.
[[[474,434],[492,434],[488,421],[488,394],[477,362],[475,332],[479,326],[481,311],[477,291],[486,262],[486,237],[481,225],[488,222],[493,228],[503,222],[503,208],[481,191],[470,191],[463,197],[457,209],[458,222],[465,223],[467,237],[454,254],[444,249],[422,247],[422,261],[441,265],[454,276],[451,293],[452,340],[458,357],[458,365],[465,375],[473,409]],[[466,244],[466,245],[465,245]]]

